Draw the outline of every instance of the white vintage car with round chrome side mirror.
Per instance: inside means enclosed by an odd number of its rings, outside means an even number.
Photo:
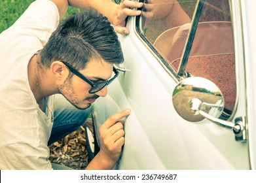
[[[120,74],[93,105],[89,152],[131,108],[115,169],[255,169],[256,1],[143,2],[119,35]]]

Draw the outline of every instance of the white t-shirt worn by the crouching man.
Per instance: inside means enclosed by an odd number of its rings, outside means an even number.
[[[38,0],[0,35],[0,169],[52,169],[47,146],[51,112],[37,105],[27,65],[58,22],[56,5]],[[48,107],[53,111],[52,97]]]

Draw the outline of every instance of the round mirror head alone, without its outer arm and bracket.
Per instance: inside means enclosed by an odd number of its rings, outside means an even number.
[[[219,118],[224,108],[221,90],[210,80],[200,77],[181,80],[174,90],[172,100],[177,113],[189,122],[204,120],[200,110]]]

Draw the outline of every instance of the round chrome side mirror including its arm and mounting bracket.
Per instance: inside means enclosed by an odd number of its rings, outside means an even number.
[[[232,129],[236,141],[246,140],[245,118],[237,118],[234,123],[219,119],[224,109],[221,90],[210,80],[200,77],[185,78],[177,84],[172,94],[174,108],[185,120],[201,122],[205,118]]]

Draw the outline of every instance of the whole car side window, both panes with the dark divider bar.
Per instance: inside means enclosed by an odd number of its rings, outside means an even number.
[[[236,101],[229,0],[145,0],[138,35],[178,80],[200,76],[225,97],[229,118]]]

